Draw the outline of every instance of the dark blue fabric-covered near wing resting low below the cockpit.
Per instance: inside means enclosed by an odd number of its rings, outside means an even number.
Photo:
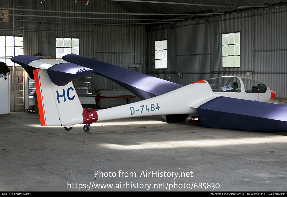
[[[217,97],[197,108],[204,127],[242,131],[287,132],[287,106]]]

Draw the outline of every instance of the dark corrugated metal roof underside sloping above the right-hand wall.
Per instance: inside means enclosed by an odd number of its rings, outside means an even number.
[[[107,0],[104,0],[107,1]],[[109,0],[110,1],[110,0]],[[217,14],[246,11],[270,6],[283,6],[286,0],[112,0],[128,13],[165,13],[169,15],[135,15],[140,19],[199,18]],[[178,15],[182,14],[182,15]],[[206,15],[205,15],[206,14]]]

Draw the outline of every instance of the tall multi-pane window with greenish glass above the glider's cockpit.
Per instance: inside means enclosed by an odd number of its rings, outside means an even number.
[[[240,32],[222,34],[222,67],[240,67]]]

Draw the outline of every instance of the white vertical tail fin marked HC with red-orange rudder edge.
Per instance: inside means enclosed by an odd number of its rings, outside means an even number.
[[[83,123],[83,108],[72,82],[57,86],[44,69],[34,70],[34,78],[42,126],[71,128]]]

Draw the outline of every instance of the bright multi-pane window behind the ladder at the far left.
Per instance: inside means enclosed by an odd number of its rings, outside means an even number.
[[[10,60],[10,57],[23,55],[24,53],[23,37],[15,36],[14,38],[15,42],[13,36],[0,36],[0,61],[6,63],[7,66],[14,65],[14,63]]]

